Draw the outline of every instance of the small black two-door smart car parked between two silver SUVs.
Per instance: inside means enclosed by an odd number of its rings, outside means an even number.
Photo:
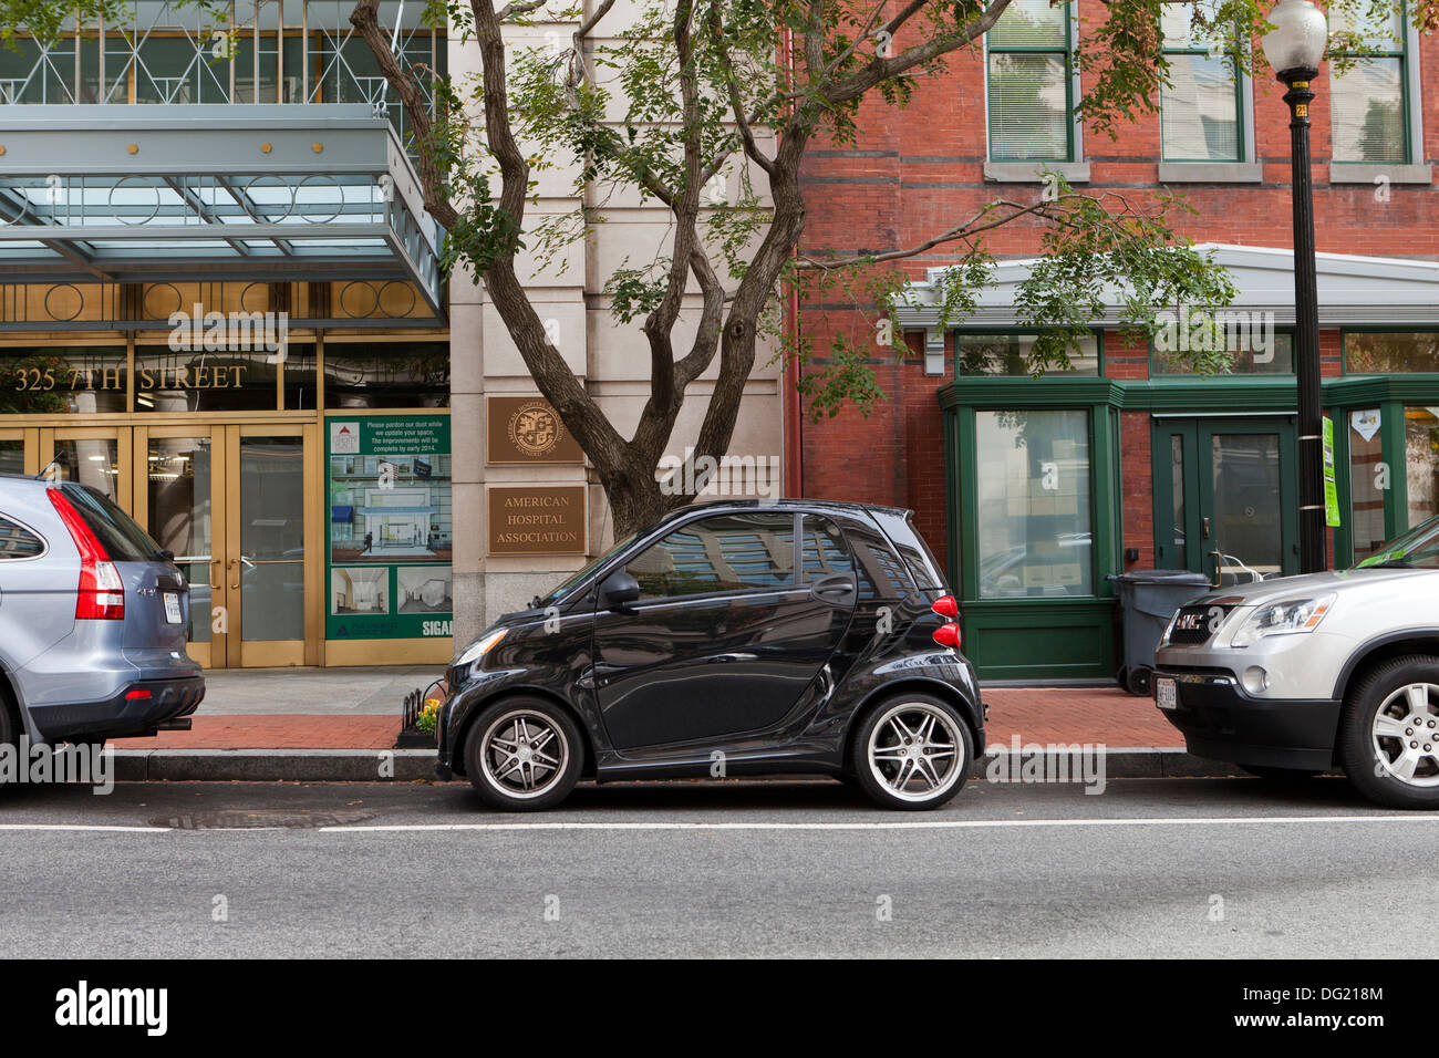
[[[439,773],[509,810],[581,776],[816,772],[935,808],[984,750],[957,616],[909,511],[685,507],[456,655]]]

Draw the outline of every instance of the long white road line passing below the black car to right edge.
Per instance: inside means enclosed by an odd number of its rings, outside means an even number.
[[[684,823],[684,822],[534,822],[534,823],[380,823],[321,826],[331,833],[419,833],[446,831],[980,831],[1019,826],[1227,826],[1286,823],[1439,823],[1439,815],[1371,816],[1145,816],[1118,819],[896,819],[872,823]]]

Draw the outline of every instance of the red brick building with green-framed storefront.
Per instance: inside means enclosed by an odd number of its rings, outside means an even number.
[[[1075,370],[1027,376],[1013,285],[1039,248],[1030,223],[987,239],[1000,258],[979,311],[941,327],[938,246],[905,262],[912,356],[878,361],[889,402],[804,422],[806,495],[911,507],[961,599],[966,649],[989,678],[1111,675],[1108,574],[1187,567],[1227,583],[1298,570],[1288,108],[1282,85],[1235,78],[1166,22],[1174,86],[1160,112],[1095,135],[1073,121],[1072,49],[1097,0],[1014,0],[983,48],[922,79],[905,109],[871,101],[856,143],[820,144],[804,173],[812,248],[918,245],[996,197],[1035,200],[1040,168],[1137,202],[1181,193],[1179,229],[1210,243],[1239,288],[1233,371],[1177,373],[1160,345],[1094,321]],[[1311,107],[1320,347],[1334,422],[1338,566],[1439,512],[1439,42],[1397,17],[1386,55],[1334,76]],[[1400,43],[1402,42],[1402,43]],[[833,297],[833,295],[829,295]],[[810,301],[823,348],[875,341],[878,309]],[[1262,334],[1262,327],[1272,331]],[[884,354],[881,354],[884,356]],[[863,458],[856,458],[863,453]]]

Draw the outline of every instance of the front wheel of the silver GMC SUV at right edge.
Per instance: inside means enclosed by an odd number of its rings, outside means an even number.
[[[1392,808],[1439,808],[1439,658],[1394,658],[1363,677],[1340,723],[1350,782]]]

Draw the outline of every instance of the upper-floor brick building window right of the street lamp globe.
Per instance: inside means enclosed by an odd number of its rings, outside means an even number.
[[[1407,7],[1368,10],[1360,19],[1337,9],[1330,12],[1331,33],[1351,35],[1354,48],[1363,48],[1368,56],[1343,73],[1331,68],[1334,161],[1400,166],[1410,161],[1406,14]],[[1330,59],[1345,55],[1356,50],[1331,50]]]

